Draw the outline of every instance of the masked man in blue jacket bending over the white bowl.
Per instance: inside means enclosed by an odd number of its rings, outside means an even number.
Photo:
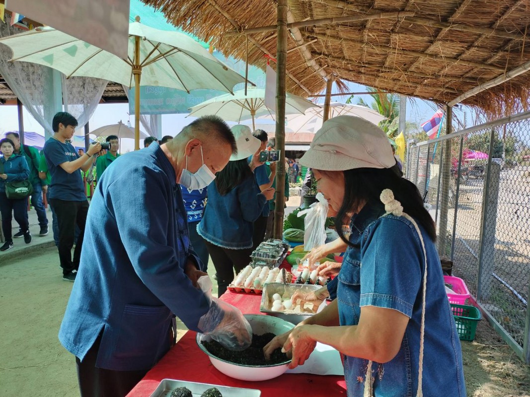
[[[179,186],[207,186],[236,151],[226,123],[205,116],[103,173],[59,331],[76,356],[81,395],[126,395],[171,348],[175,315],[224,345],[250,345],[241,312],[196,287],[205,273],[190,246]]]

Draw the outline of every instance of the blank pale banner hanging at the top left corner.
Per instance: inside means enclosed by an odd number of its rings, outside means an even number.
[[[129,1],[8,0],[6,8],[127,59]]]

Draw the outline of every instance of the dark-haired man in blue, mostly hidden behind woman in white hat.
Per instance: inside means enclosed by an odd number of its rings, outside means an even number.
[[[261,141],[261,146],[259,151],[257,152],[259,154],[260,151],[263,151],[267,148],[267,142],[269,140],[267,136],[267,132],[263,130],[255,130],[252,133],[252,136],[255,138],[258,138]],[[249,157],[249,164],[252,161],[252,157]],[[256,182],[258,183],[260,190],[264,191],[272,186],[272,182],[274,181],[274,178],[276,177],[276,161],[272,161],[270,164],[270,175],[267,173],[267,167],[265,163],[262,163],[260,166],[256,167],[254,169],[254,177],[256,178]],[[259,218],[254,221],[254,232],[252,233],[252,248],[255,250],[258,248],[260,243],[265,238],[265,230],[267,228],[267,219],[269,219],[269,205],[266,203],[263,206],[263,211]]]

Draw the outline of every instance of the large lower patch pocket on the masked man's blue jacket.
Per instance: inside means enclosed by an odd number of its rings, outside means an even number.
[[[171,318],[166,306],[125,305],[114,359],[134,362],[138,368],[151,368],[170,347]]]

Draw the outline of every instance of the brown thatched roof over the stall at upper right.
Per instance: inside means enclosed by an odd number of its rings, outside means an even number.
[[[276,24],[271,0],[143,0],[176,26],[245,59],[245,36],[226,35]],[[338,76],[390,92],[447,103],[530,60],[528,0],[289,0],[289,22],[408,12],[299,28],[288,41],[287,91],[322,92]],[[250,64],[264,68],[276,54],[276,31],[249,33]],[[309,52],[304,52],[307,49]],[[313,67],[306,65],[310,53]],[[272,62],[273,63],[273,62]],[[530,78],[520,75],[472,96],[465,104],[493,113],[527,108]],[[499,106],[505,104],[506,106]]]

